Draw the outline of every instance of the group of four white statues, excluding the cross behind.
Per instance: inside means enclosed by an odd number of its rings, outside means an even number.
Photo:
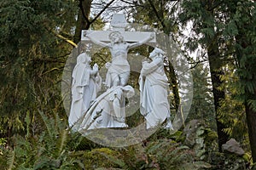
[[[111,62],[108,69],[106,86],[108,90],[97,96],[102,85],[98,66],[90,67],[90,56],[79,54],[73,69],[72,103],[68,117],[73,131],[84,132],[90,129],[108,127],[128,127],[125,123],[125,98],[134,94],[134,88],[127,85],[130,76],[130,65],[127,54],[135,48],[154,38],[154,33],[139,42],[125,42],[120,31],[110,31],[110,43],[102,42],[93,36],[86,35],[91,42],[109,48]],[[165,52],[154,48],[149,59],[143,61],[140,85],[140,112],[145,117],[146,128],[156,127],[167,121],[166,127],[172,128],[170,105],[167,100],[167,77],[164,71]]]

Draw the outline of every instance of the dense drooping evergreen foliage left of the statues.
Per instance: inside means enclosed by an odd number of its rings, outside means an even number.
[[[35,121],[38,110],[63,113],[60,75],[73,47],[59,36],[71,34],[74,6],[70,0],[2,0],[0,5],[0,121],[2,135],[10,137],[26,132],[26,115]]]

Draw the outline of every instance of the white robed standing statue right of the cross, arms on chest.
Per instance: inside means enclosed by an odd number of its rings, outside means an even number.
[[[147,128],[156,127],[167,121],[166,127],[172,129],[170,105],[167,99],[168,79],[164,70],[164,51],[154,48],[144,61],[140,84],[140,111],[145,117]]]

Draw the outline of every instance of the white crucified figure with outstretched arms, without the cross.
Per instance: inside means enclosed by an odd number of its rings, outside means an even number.
[[[109,33],[108,37],[111,41],[110,43],[98,41],[90,36],[90,34],[87,35],[87,37],[89,37],[92,42],[95,42],[102,47],[109,48],[111,52],[112,62],[106,64],[106,67],[108,68],[106,85],[108,88],[111,88],[116,86],[124,87],[127,84],[130,76],[130,65],[127,60],[128,50],[152,40],[154,38],[154,33],[141,42],[133,43],[125,42],[120,31],[111,31]]]

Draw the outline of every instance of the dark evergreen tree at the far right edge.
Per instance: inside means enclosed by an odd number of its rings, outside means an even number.
[[[236,23],[237,74],[244,101],[253,162],[256,162],[256,2],[234,1],[230,4]]]

